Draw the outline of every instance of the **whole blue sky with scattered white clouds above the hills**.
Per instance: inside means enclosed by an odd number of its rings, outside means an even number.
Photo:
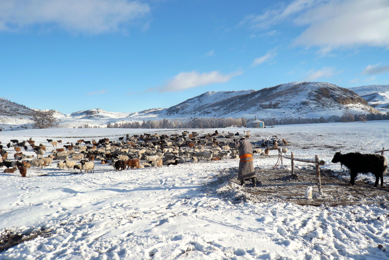
[[[0,1],[0,97],[168,108],[207,91],[389,84],[389,0]]]

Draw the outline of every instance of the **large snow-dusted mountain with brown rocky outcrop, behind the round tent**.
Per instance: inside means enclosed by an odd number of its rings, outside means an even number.
[[[341,116],[346,106],[354,114],[379,113],[355,92],[326,82],[290,82],[258,91],[234,92],[232,96],[224,93],[206,92],[151,113],[159,118],[251,118],[254,115],[259,118],[329,118]]]

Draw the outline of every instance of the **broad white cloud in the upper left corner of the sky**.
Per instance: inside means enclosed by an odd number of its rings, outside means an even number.
[[[147,3],[127,0],[0,1],[0,30],[58,26],[89,34],[119,31],[150,12]]]

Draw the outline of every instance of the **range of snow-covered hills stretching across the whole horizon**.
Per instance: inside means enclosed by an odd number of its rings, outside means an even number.
[[[386,88],[385,88],[386,87]],[[373,90],[374,89],[374,90]],[[371,86],[349,89],[326,82],[290,82],[275,87],[242,91],[210,91],[169,108],[151,108],[140,112],[107,112],[100,108],[78,111],[72,114],[56,112],[60,127],[106,127],[108,123],[143,120],[188,119],[201,117],[266,118],[319,118],[342,116],[347,107],[353,114],[381,113],[372,106],[384,107],[388,95],[378,99],[375,90],[389,90],[388,86]],[[357,94],[373,95],[362,98]],[[370,92],[369,92],[370,91]],[[379,93],[385,93],[379,92]],[[375,93],[375,94],[374,94]],[[366,101],[366,100],[367,101]],[[381,102],[379,105],[378,101]],[[369,104],[368,104],[369,102]],[[25,106],[0,99],[0,127],[30,128],[31,110]],[[16,115],[16,116],[15,116]]]

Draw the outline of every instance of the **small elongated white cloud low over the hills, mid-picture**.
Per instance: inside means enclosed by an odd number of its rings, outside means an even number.
[[[181,72],[174,76],[172,79],[159,89],[159,92],[172,92],[189,89],[192,87],[206,86],[214,83],[227,82],[237,75],[241,75],[242,72],[234,72],[227,75],[222,75],[217,71],[209,73],[193,72]]]

